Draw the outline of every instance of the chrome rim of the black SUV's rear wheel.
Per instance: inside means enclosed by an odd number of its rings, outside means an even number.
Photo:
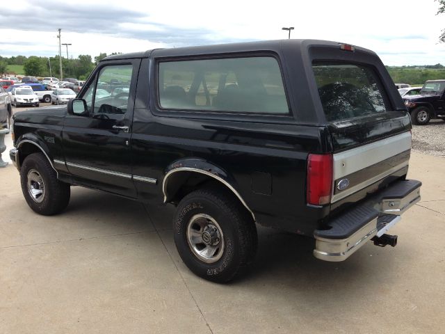
[[[193,254],[203,262],[214,263],[223,256],[223,230],[208,214],[195,214],[188,221],[187,241]]]

